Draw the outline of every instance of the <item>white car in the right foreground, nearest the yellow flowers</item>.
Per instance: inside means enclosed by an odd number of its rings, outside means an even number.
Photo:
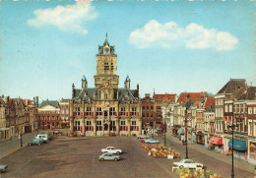
[[[181,159],[178,162],[173,162],[172,163],[172,171],[174,171],[175,169],[178,168],[189,168],[189,169],[202,169],[203,168],[203,164],[198,163],[198,162],[194,162],[192,159]]]

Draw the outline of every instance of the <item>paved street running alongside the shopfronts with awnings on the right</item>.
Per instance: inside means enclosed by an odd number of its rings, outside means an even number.
[[[159,137],[161,143],[163,143],[163,136]],[[166,135],[166,147],[179,150],[182,158],[186,156],[186,146],[183,146],[178,138],[171,135]],[[191,158],[197,162],[203,163],[208,170],[222,175],[224,177],[230,177],[231,174],[231,156],[224,155],[213,150],[209,150],[199,145],[188,145],[188,158]],[[255,177],[254,165],[245,161],[234,158],[234,175],[238,178],[243,177]]]

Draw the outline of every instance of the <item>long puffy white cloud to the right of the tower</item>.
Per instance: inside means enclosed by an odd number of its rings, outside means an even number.
[[[185,46],[190,49],[214,48],[221,51],[233,49],[238,40],[228,32],[208,30],[194,23],[181,28],[174,22],[161,25],[152,20],[143,28],[132,31],[129,42],[137,48]]]

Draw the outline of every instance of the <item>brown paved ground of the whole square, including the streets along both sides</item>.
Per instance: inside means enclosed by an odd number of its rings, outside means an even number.
[[[32,140],[35,133],[25,135],[24,143]],[[163,136],[157,137],[163,145]],[[185,146],[177,138],[167,135],[166,147],[181,153],[181,158],[154,158],[147,155],[141,143],[130,137],[86,137],[67,138],[59,136],[43,146],[24,147],[20,150],[20,140],[0,143],[4,156],[0,164],[7,164],[9,171],[0,177],[177,177],[171,171],[173,161],[185,158]],[[98,161],[101,148],[114,146],[122,148],[122,160],[118,162]],[[198,145],[188,145],[188,157],[203,163],[224,178],[231,173],[231,158]],[[236,178],[253,178],[254,166],[234,159]],[[2,178],[1,177],[1,178]]]

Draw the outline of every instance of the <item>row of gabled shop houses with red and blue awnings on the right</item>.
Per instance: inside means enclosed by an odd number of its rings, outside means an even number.
[[[182,92],[162,116],[173,136],[225,154],[233,148],[234,156],[256,163],[256,87],[245,80],[230,79],[214,96]]]

